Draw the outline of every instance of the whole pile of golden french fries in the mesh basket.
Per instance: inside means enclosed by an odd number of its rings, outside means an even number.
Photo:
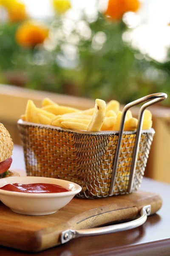
[[[24,121],[53,125],[67,129],[84,131],[119,131],[122,111],[119,102],[111,100],[108,104],[102,99],[96,99],[94,108],[81,111],[76,108],[58,105],[51,99],[42,100],[42,107],[37,108],[32,100],[28,100],[26,113],[21,116]],[[138,120],[127,111],[124,131],[134,131]],[[144,111],[142,129],[152,127],[152,114]]]

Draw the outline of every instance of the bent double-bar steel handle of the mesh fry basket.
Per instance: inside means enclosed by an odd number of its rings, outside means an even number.
[[[147,96],[144,96],[140,99],[137,99],[133,102],[128,103],[122,111],[122,119],[120,123],[120,130],[119,130],[119,138],[117,142],[117,147],[116,147],[116,152],[115,152],[115,157],[114,157],[114,163],[113,163],[113,171],[112,171],[112,177],[111,177],[111,184],[110,184],[110,189],[109,189],[109,195],[113,195],[113,190],[114,190],[114,185],[115,185],[115,180],[116,180],[116,170],[118,166],[118,161],[119,161],[119,153],[120,153],[120,148],[121,148],[121,143],[122,143],[122,137],[123,137],[123,130],[125,126],[125,118],[127,111],[141,103],[147,102],[142,107],[140,108],[139,111],[139,116],[138,116],[138,127],[136,130],[136,140],[135,140],[135,146],[134,146],[134,151],[133,151],[133,159],[132,159],[132,165],[130,169],[130,178],[129,178],[129,185],[127,192],[131,193],[133,189],[133,180],[134,180],[134,175],[135,175],[135,170],[136,170],[136,161],[137,161],[137,156],[138,156],[138,151],[139,151],[139,143],[140,143],[140,137],[142,133],[142,123],[143,123],[143,117],[144,117],[144,110],[151,105],[154,105],[158,102],[163,101],[164,99],[167,99],[167,94],[166,93],[154,93],[150,94]]]

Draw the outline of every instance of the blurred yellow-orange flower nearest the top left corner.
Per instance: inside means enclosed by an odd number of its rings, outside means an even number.
[[[8,6],[8,17],[12,22],[26,20],[26,6],[23,3],[14,1],[13,4]]]

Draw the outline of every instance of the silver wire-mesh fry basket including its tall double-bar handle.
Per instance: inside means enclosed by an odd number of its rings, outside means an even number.
[[[144,175],[155,131],[142,131],[144,110],[167,98],[145,96],[125,106],[120,131],[89,132],[23,120],[18,129],[28,176],[70,180],[82,186],[81,198],[102,198],[135,192]],[[140,103],[136,131],[123,132],[127,111]]]

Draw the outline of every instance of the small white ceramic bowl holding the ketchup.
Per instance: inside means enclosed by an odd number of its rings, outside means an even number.
[[[9,183],[50,183],[71,189],[60,193],[24,193],[0,189],[0,200],[13,212],[26,215],[48,215],[68,204],[82,188],[76,183],[46,177],[8,177],[0,179],[0,188]]]

